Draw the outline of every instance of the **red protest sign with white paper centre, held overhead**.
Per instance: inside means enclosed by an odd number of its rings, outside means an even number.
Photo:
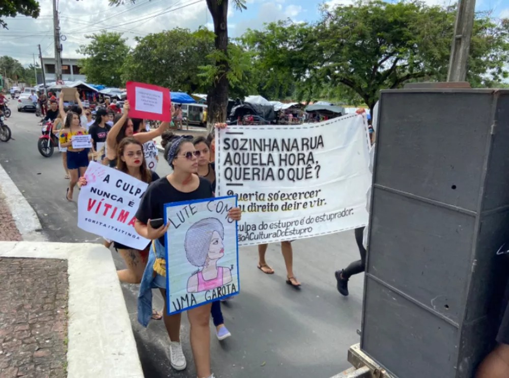
[[[151,84],[127,82],[129,117],[169,122],[171,99],[167,88]]]

